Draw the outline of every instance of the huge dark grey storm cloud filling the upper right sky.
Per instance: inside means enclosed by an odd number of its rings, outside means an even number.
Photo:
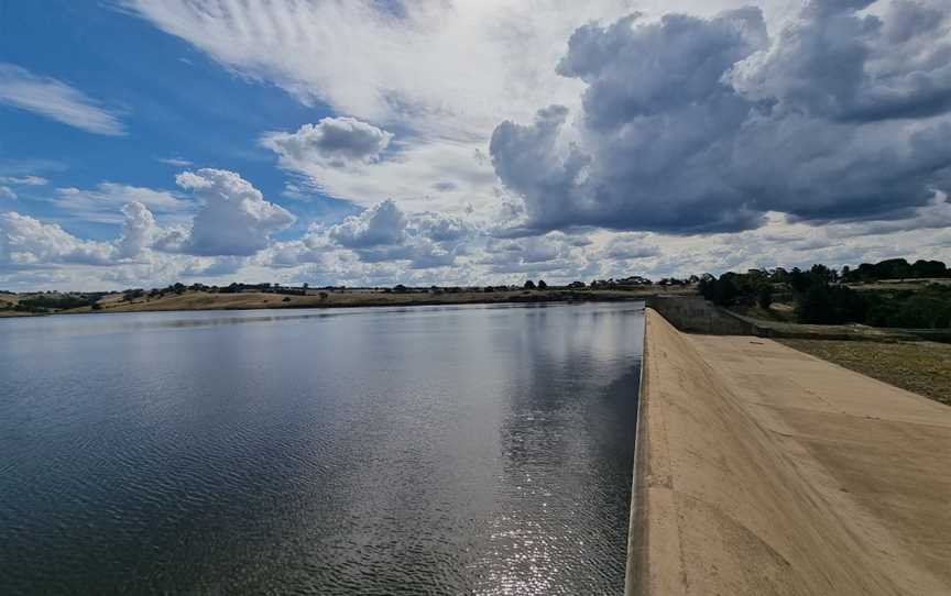
[[[949,23],[937,3],[870,4],[813,1],[773,42],[755,8],[578,29],[558,71],[587,84],[583,111],[492,136],[517,229],[911,218],[951,187]]]

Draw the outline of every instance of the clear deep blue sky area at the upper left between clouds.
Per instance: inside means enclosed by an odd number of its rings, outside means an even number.
[[[50,187],[91,188],[108,180],[175,190],[175,174],[187,167],[241,172],[274,202],[289,203],[305,217],[332,221],[354,211],[319,192],[308,192],[308,200],[282,197],[288,176],[256,142],[266,131],[330,115],[326,106],[304,106],[274,85],[228,71],[114,5],[3,2],[0,56],[80,89],[117,114],[124,130],[122,135],[90,134],[0,104],[0,176],[32,174],[51,183],[18,192],[18,208],[25,213],[61,222],[84,238],[109,239],[118,224],[88,222],[57,209],[48,201]]]

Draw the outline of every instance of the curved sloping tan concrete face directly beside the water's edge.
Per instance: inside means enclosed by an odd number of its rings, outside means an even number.
[[[812,460],[652,308],[641,375],[625,595],[903,593]]]

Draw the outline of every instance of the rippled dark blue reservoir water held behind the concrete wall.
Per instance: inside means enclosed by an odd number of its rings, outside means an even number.
[[[0,593],[621,594],[640,305],[0,320]]]

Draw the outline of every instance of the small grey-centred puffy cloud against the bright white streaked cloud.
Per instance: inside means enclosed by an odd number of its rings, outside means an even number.
[[[372,163],[390,144],[393,134],[356,118],[324,118],[304,124],[297,132],[271,132],[262,144],[296,168],[321,163],[332,167]]]

